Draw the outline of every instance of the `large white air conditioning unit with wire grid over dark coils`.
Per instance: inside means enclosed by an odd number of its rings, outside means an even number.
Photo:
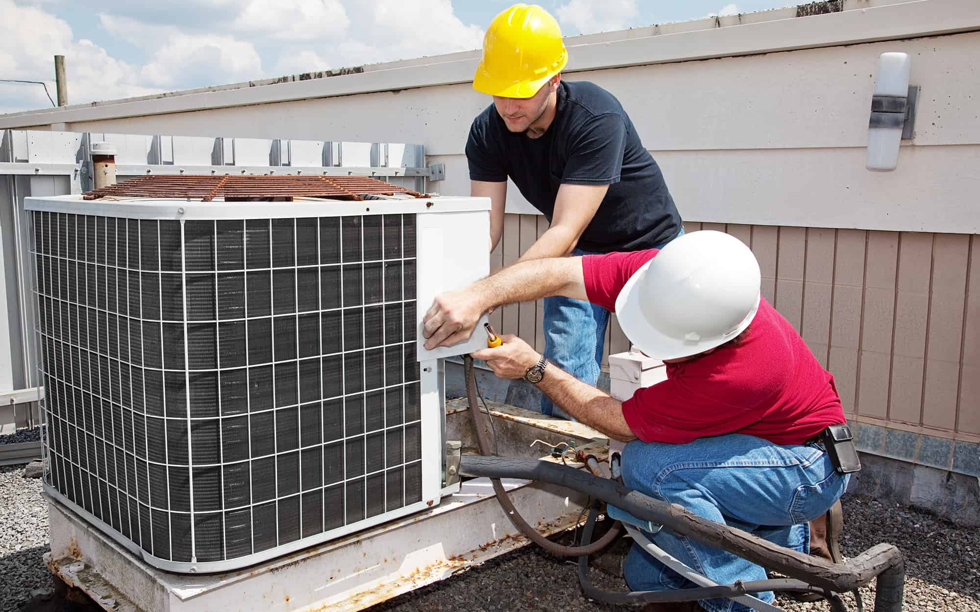
[[[438,359],[485,342],[426,352],[419,332],[488,273],[487,199],[254,196],[25,202],[44,489],[168,571],[437,504]]]

